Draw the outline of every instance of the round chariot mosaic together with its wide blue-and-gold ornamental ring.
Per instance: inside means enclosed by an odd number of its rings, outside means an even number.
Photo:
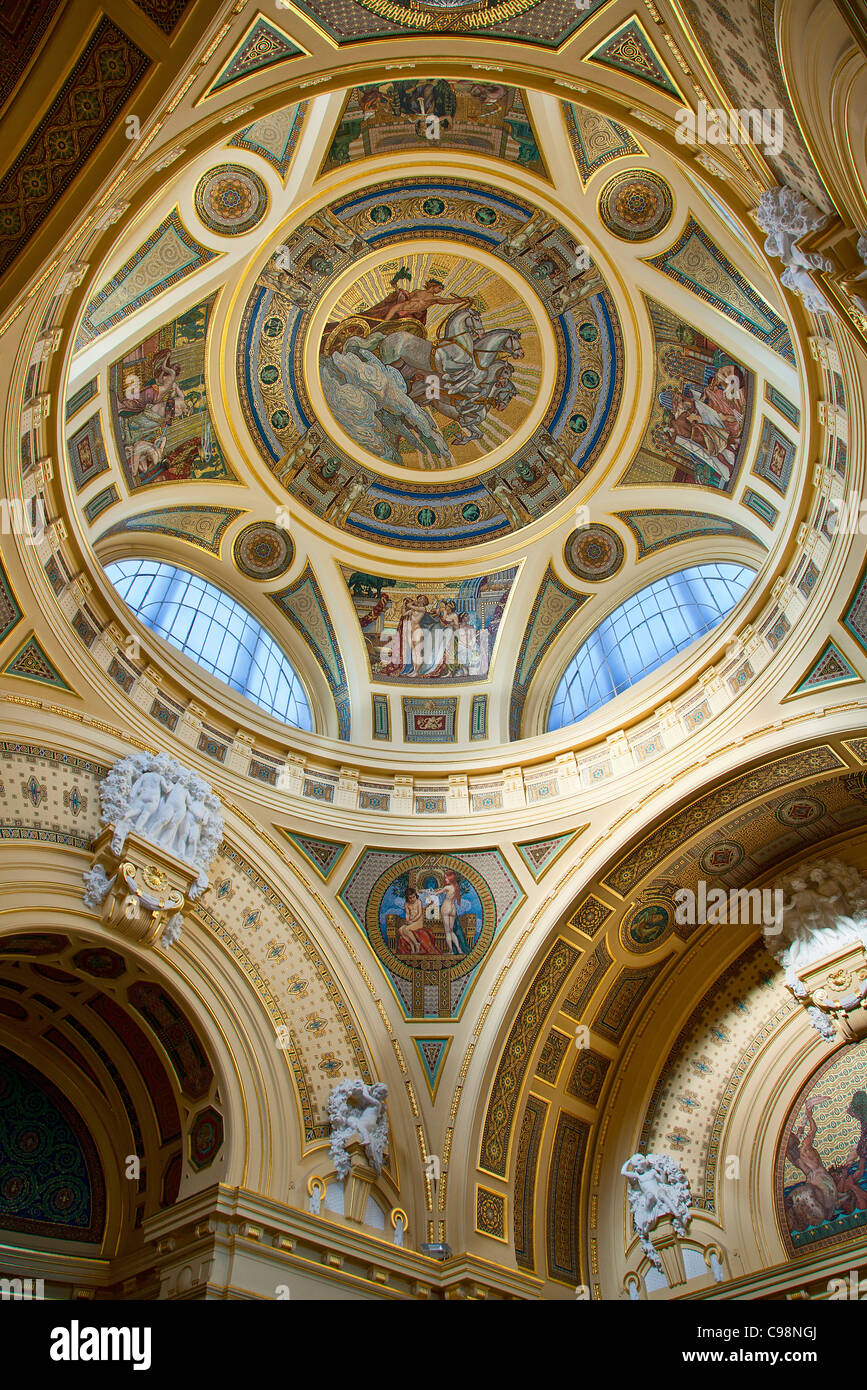
[[[552,215],[402,179],[285,236],[247,299],[238,381],[261,457],[317,516],[413,549],[471,545],[588,474],[617,417],[622,334]]]

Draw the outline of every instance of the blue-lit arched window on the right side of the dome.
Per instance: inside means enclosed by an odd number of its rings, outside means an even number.
[[[591,632],[554,691],[547,728],[574,724],[721,623],[746,594],[745,564],[695,564],[654,580]]]

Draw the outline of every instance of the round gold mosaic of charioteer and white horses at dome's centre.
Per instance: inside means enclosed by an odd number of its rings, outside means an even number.
[[[422,211],[438,217],[445,203],[425,199]],[[377,253],[331,307],[325,300],[314,316],[314,332],[325,321],[307,361],[308,393],[315,407],[315,366],[325,430],[347,449],[360,445],[374,466],[496,461],[529,438],[546,404],[542,348],[553,335],[543,332],[542,304],[465,247],[417,245]]]

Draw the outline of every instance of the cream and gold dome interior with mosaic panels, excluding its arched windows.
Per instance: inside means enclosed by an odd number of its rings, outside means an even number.
[[[800,491],[795,350],[749,229],[652,133],[431,76],[178,158],[68,373],[94,560],[222,588],[296,669],[311,737],[385,753],[568,746],[546,728],[570,659],[691,567],[741,566],[735,617],[757,613]],[[685,691],[727,612],[581,737]]]

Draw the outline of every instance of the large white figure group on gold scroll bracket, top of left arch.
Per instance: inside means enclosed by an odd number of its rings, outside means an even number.
[[[167,753],[133,753],[100,784],[101,820],[113,824],[111,849],[122,853],[131,831],[199,870],[189,897],[207,888],[207,869],[222,838],[220,798]]]

